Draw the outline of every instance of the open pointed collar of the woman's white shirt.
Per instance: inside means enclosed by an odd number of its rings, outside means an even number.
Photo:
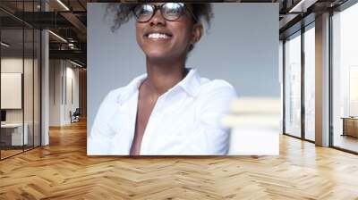
[[[200,75],[196,69],[188,68],[188,74],[182,79],[179,83],[168,90],[171,92],[172,90],[176,89],[177,87],[183,88],[190,96],[197,96],[200,90]],[[124,87],[124,91],[117,96],[117,103],[125,102],[128,98],[130,98],[135,92],[138,91],[141,83],[144,79],[147,78],[147,74],[141,74],[141,76],[132,79],[132,81]]]

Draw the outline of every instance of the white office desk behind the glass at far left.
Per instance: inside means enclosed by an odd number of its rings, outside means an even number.
[[[5,123],[1,124],[1,140],[5,146],[22,146],[28,145],[28,129],[29,125],[24,123],[22,137],[22,123]]]

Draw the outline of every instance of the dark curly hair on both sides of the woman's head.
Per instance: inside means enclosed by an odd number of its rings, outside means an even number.
[[[113,12],[115,14],[113,25],[111,30],[114,32],[116,29],[119,29],[122,24],[126,23],[133,17],[132,10],[136,5],[140,3],[111,3],[107,5],[107,13]],[[205,21],[210,27],[210,21],[214,17],[214,13],[212,12],[212,6],[210,3],[198,3],[192,4],[192,14],[195,19],[198,19],[198,22]],[[189,51],[192,51],[193,46],[190,46]]]

